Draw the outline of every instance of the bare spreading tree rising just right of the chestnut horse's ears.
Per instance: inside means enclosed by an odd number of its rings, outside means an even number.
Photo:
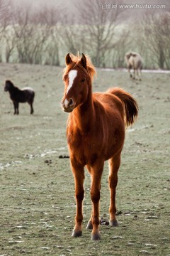
[[[101,63],[104,65],[108,51],[118,45],[115,27],[123,14],[123,9],[107,6],[108,1],[102,2],[103,4],[99,4],[98,0],[81,0],[76,5],[79,23],[84,24],[86,49],[93,52],[93,60],[98,67]]]

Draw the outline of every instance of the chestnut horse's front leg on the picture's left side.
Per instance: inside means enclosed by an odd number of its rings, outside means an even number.
[[[82,234],[83,210],[82,204],[84,199],[84,166],[71,159],[72,172],[75,181],[75,196],[77,200],[77,213],[75,217],[75,226],[72,237],[77,238]]]

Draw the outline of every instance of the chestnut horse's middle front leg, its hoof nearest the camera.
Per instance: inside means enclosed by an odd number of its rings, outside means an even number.
[[[91,232],[91,240],[99,240],[101,238],[98,225],[99,220],[99,203],[100,203],[100,191],[101,191],[101,176],[103,173],[104,161],[96,163],[91,168],[91,201],[93,203],[93,210],[89,225],[93,225]],[[89,227],[90,228],[90,227]],[[91,226],[92,228],[92,226]]]

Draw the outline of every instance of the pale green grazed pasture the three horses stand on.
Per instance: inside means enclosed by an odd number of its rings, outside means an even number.
[[[72,238],[76,205],[65,135],[67,114],[60,107],[62,68],[0,64],[7,78],[35,89],[35,113],[27,104],[13,115],[8,92],[0,102],[0,255],[170,255],[170,74],[143,73],[130,80],[123,71],[98,70],[94,91],[123,87],[140,106],[126,133],[117,189],[118,228],[101,225],[101,240],[91,241],[86,172],[84,230]],[[108,163],[101,183],[101,217],[108,219]]]

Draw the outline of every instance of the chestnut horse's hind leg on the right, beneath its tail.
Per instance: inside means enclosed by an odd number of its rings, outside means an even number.
[[[120,166],[120,154],[113,156],[109,159],[109,187],[111,193],[111,203],[109,208],[110,213],[110,225],[118,226],[118,220],[115,218],[116,207],[115,207],[115,191],[118,183],[118,169]]]

